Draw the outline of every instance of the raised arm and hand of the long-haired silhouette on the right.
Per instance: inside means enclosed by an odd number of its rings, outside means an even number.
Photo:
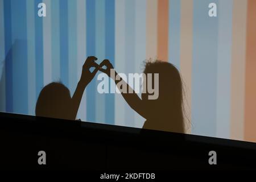
[[[104,65],[106,66],[106,69],[102,68]],[[138,114],[140,114],[142,117],[147,118],[146,110],[145,110],[145,107],[143,106],[143,101],[141,100],[141,98],[139,98],[138,94],[136,94],[134,90],[124,80],[122,80],[122,78],[118,75],[118,73],[114,71],[114,67],[110,63],[110,61],[109,60],[102,61],[102,63],[100,64],[99,70],[101,72],[106,73],[110,78],[112,78],[115,81],[116,85],[118,84],[118,85],[125,86],[125,88],[127,88],[126,93],[122,92],[123,89],[122,90],[120,88],[118,89],[120,90],[123,98],[125,98],[125,101],[127,102],[127,104],[133,110],[135,110]],[[110,74],[111,72],[114,72],[114,74]],[[128,90],[133,90],[133,93],[129,93]]]

